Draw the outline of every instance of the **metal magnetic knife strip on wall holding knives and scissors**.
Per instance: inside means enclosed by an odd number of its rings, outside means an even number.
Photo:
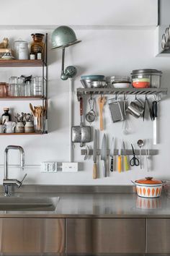
[[[109,149],[107,150],[107,155],[109,155]],[[81,155],[86,155],[87,154],[87,150],[86,149],[82,149],[81,150]],[[89,155],[93,155],[93,150],[90,149],[88,152]],[[101,154],[101,150],[97,149],[97,155]],[[115,149],[114,150],[114,155],[118,155],[118,150]],[[121,150],[121,155],[124,155],[124,150]],[[126,155],[133,155],[133,150],[128,150],[126,149]],[[140,150],[135,150],[135,155],[140,155]],[[146,155],[146,150],[141,150],[141,155]],[[149,150],[149,155],[158,155],[158,150]]]

